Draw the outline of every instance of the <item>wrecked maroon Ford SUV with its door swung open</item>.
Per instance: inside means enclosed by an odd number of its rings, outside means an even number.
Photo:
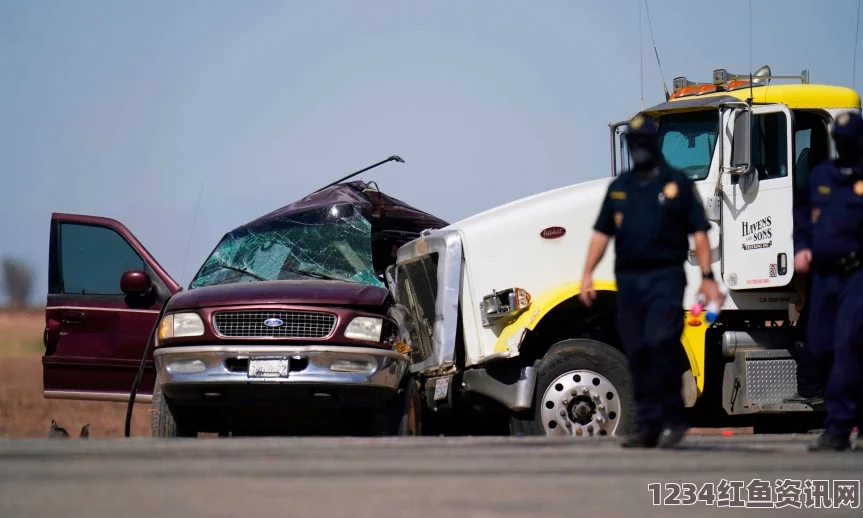
[[[227,233],[182,290],[121,223],[54,214],[45,397],[127,401],[158,325],[136,399],[156,436],[415,433],[409,323],[385,270],[446,224],[337,184]]]

